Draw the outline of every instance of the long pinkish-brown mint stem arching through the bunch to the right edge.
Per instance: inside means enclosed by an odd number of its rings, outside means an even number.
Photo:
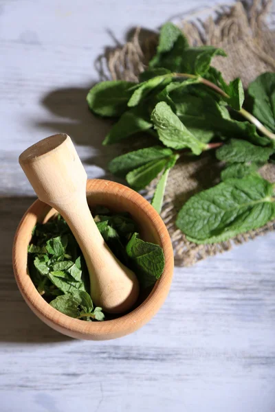
[[[200,76],[195,76],[195,74],[173,73],[173,76],[179,77],[179,78],[184,77],[184,78],[189,78],[189,79],[197,79],[200,83],[203,83],[206,86],[213,89],[214,91],[217,91],[217,93],[222,95],[223,98],[225,99],[230,98],[230,96],[227,93],[225,93],[225,91],[223,91],[219,86],[217,86],[217,84],[214,84],[205,78],[201,78]],[[241,108],[241,110],[237,112],[240,113],[240,115],[242,115],[243,117],[245,117],[245,119],[248,119],[251,123],[253,123],[256,126],[256,128],[260,130],[261,133],[263,133],[263,135],[269,137],[270,139],[275,139],[274,133],[270,132],[270,130],[268,130],[265,126],[263,126],[263,124],[258,119],[256,119],[256,117],[254,117],[251,113],[246,111],[245,108]]]

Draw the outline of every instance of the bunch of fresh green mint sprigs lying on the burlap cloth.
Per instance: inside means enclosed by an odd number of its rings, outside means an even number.
[[[116,157],[109,170],[135,190],[160,174],[152,201],[159,212],[181,153],[217,149],[225,162],[222,183],[192,196],[177,217],[177,227],[196,243],[220,242],[275,218],[274,186],[257,173],[275,148],[275,73],[256,78],[245,99],[239,78],[227,84],[210,66],[213,56],[226,55],[212,46],[190,47],[181,30],[166,23],[139,83],[101,82],[87,95],[91,111],[119,118],[104,145],[138,132],[155,137],[154,146]]]

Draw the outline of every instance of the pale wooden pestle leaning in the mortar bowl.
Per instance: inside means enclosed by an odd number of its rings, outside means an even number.
[[[41,201],[65,218],[83,251],[91,298],[106,312],[129,310],[139,293],[137,277],[104,242],[86,198],[87,174],[68,135],[47,137],[19,157],[21,168]]]

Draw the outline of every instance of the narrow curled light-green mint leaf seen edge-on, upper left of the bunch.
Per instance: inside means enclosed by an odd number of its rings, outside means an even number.
[[[153,90],[159,89],[160,86],[165,87],[171,81],[172,75],[164,74],[162,76],[155,76],[146,82],[140,83],[133,92],[133,95],[131,95],[128,106],[137,106],[137,104],[140,104],[140,102],[144,100],[144,98],[146,98],[146,96]]]

